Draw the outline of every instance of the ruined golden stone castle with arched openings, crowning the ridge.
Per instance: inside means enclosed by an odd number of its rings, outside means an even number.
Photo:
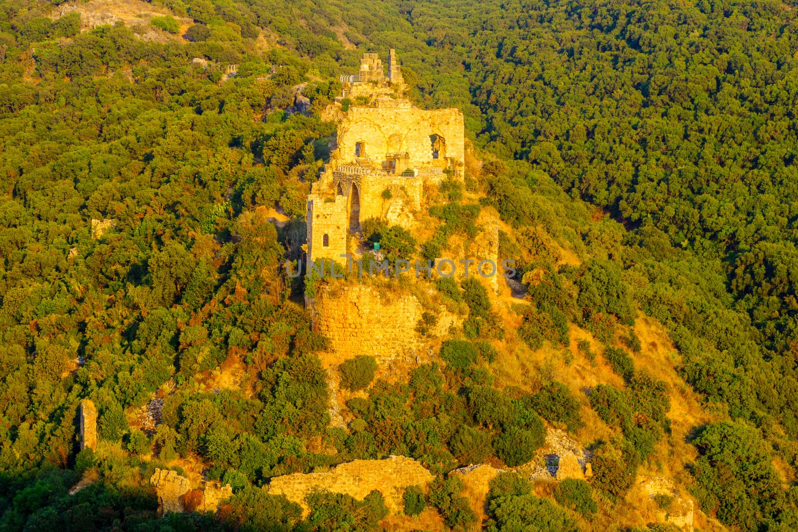
[[[405,82],[396,53],[388,76],[376,53],[361,59],[360,73],[342,76],[353,105],[338,125],[337,147],[307,199],[310,261],[346,262],[347,236],[361,221],[385,218],[409,227],[421,208],[425,186],[451,176],[463,179],[464,122],[456,108],[415,108],[403,97]]]

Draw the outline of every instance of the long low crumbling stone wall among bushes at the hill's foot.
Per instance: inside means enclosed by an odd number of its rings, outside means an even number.
[[[388,510],[401,514],[405,488],[414,484],[424,486],[433,478],[434,475],[416,460],[391,456],[384,460],[354,460],[321,473],[283,475],[271,479],[268,489],[273,495],[285,495],[298,503],[306,513],[310,511],[306,497],[314,490],[343,493],[359,500],[377,490]]]

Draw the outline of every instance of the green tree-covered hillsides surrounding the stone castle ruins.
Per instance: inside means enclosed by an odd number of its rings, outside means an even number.
[[[543,497],[497,477],[485,528],[640,530],[618,515],[635,471],[674,459],[677,387],[640,361],[646,316],[714,420],[687,436],[680,486],[729,530],[798,528],[790,2],[119,0],[163,15],[96,24],[97,3],[0,4],[0,530],[373,530],[379,497],[322,492],[303,518],[260,487],[391,454],[439,475],[408,490],[409,515],[426,505],[470,530],[443,475],[524,463],[543,420],[591,445],[594,479]],[[496,209],[528,305],[507,317],[479,283],[437,283],[468,315],[440,364],[353,383],[357,419],[328,428],[326,339],[280,266],[302,252],[338,75],[389,48],[417,105],[463,110],[484,163],[465,191],[440,191],[436,236],[397,233],[402,252],[438,256]],[[617,385],[502,382],[514,341],[595,367],[576,329]],[[219,384],[234,367],[235,386]],[[156,396],[160,423],[134,426]],[[77,452],[84,398],[101,452]],[[235,495],[217,516],[157,519],[156,467]]]

